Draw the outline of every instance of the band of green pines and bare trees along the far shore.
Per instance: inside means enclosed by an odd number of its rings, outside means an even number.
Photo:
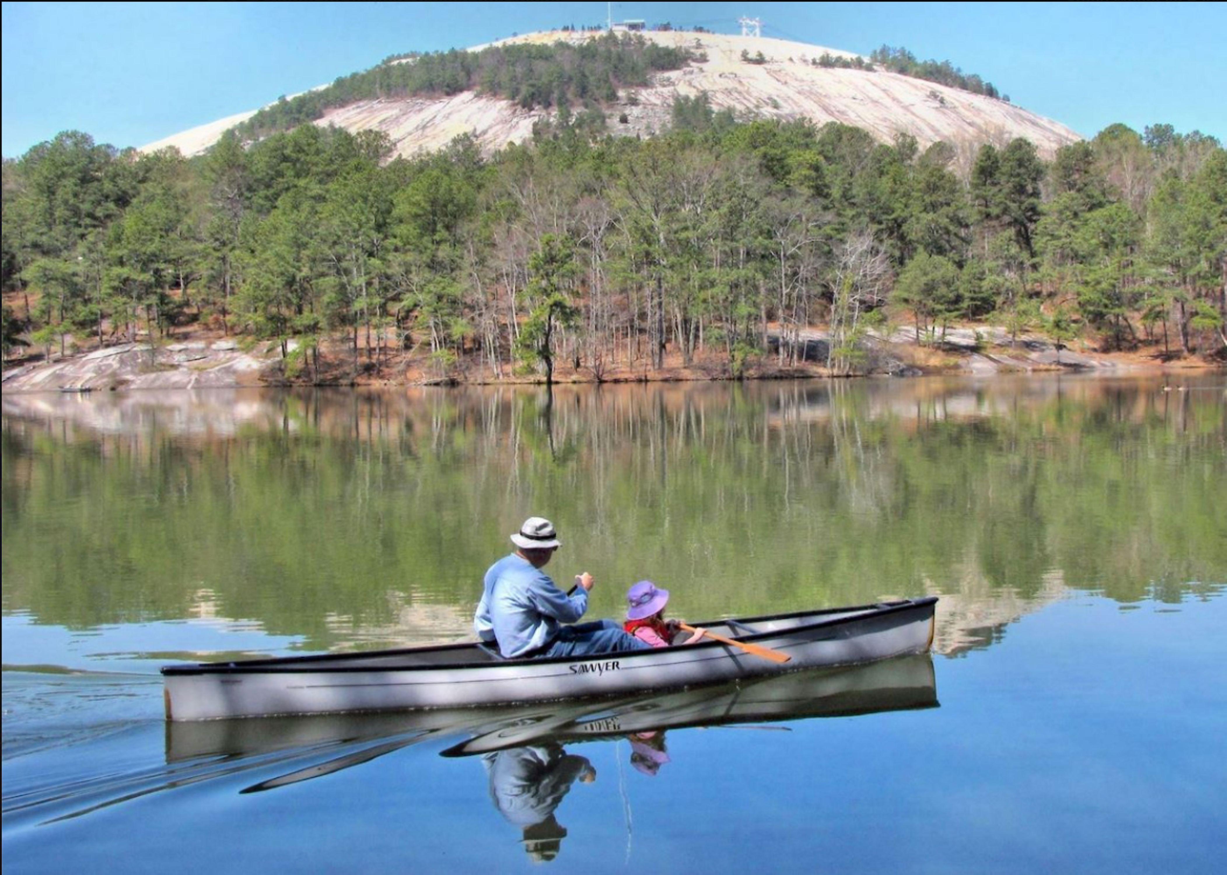
[[[796,364],[821,326],[821,364],[853,374],[875,328],[939,345],[984,322],[1164,360],[1227,347],[1214,137],[1113,125],[1052,161],[985,144],[964,177],[946,144],[702,97],[649,140],[582,115],[411,160],[315,125],[191,160],[60,134],[4,162],[5,358],[211,330],[277,341],[304,382],[340,339],[355,376],[416,357],[447,379],[699,358],[741,377]]]

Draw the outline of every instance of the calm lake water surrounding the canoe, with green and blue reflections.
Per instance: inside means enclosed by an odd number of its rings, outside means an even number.
[[[5,871],[1217,873],[1227,377],[4,395]],[[167,724],[160,665],[940,596],[931,657]]]

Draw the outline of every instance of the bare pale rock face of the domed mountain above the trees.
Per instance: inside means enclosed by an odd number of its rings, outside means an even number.
[[[580,42],[593,33],[555,31],[513,37],[499,44]],[[702,53],[706,60],[682,70],[658,75],[645,88],[636,88],[633,99],[623,93],[622,103],[610,115],[615,134],[652,135],[669,124],[675,97],[697,97],[706,92],[714,109],[733,109],[739,118],[778,118],[828,121],[864,128],[883,142],[899,133],[910,134],[921,148],[937,141],[956,148],[968,164],[980,144],[1005,145],[1015,137],[1031,140],[1039,153],[1050,158],[1063,145],[1082,137],[1065,125],[1036,115],[1005,101],[973,94],[920,79],[877,70],[820,67],[823,54],[852,58],[848,52],[767,37],[734,37],[682,31],[645,32],[645,38],[664,45],[685,47]],[[485,47],[477,47],[480,50]],[[750,64],[742,53],[764,63]],[[232,115],[145,146],[156,151],[175,146],[184,155],[207,150],[225,130],[253,115]],[[617,119],[626,115],[626,121]],[[319,125],[336,125],[350,131],[382,130],[396,153],[411,156],[442,148],[461,134],[471,134],[487,152],[508,142],[523,142],[533,135],[533,124],[550,118],[545,109],[523,109],[509,101],[465,92],[453,97],[360,101],[330,110]]]

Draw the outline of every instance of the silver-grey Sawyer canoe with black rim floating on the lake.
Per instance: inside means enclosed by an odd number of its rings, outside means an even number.
[[[168,720],[329,714],[626,696],[872,663],[933,644],[937,599],[694,623],[730,643],[504,659],[480,643],[167,665]],[[778,650],[777,663],[736,644]]]

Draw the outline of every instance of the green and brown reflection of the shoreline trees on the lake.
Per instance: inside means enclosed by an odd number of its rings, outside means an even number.
[[[1227,423],[1212,380],[1163,384],[11,395],[4,606],[86,627],[209,589],[317,647],[459,637],[529,512],[606,615],[645,576],[696,617],[934,592],[1009,619],[1054,579],[1178,600],[1227,578]]]

